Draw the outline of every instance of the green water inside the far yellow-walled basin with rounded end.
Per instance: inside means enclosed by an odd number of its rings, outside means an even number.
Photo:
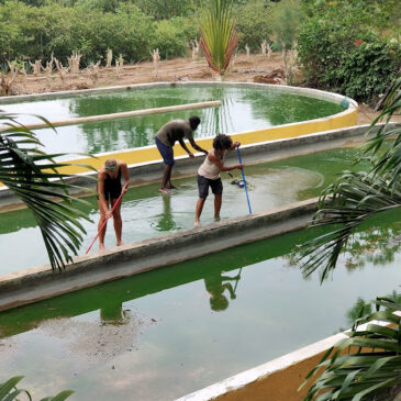
[[[0,104],[1,110],[43,115],[51,121],[109,114],[131,110],[221,100],[220,108],[208,108],[143,115],[114,121],[83,123],[35,130],[47,153],[101,153],[154,145],[156,132],[168,121],[201,118],[197,137],[218,133],[238,133],[272,125],[312,120],[336,114],[344,109],[334,102],[289,94],[266,88],[241,86],[185,85],[124,90],[63,99]],[[24,123],[37,122],[22,115]],[[70,158],[70,156],[69,156]]]

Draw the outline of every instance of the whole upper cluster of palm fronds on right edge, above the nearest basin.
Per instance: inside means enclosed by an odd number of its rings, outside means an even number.
[[[300,247],[304,258],[302,271],[309,276],[320,269],[321,280],[327,278],[337,265],[341,252],[356,229],[366,220],[391,209],[401,207],[401,127],[388,129],[392,114],[401,109],[401,78],[398,79],[382,113],[372,122],[385,119],[377,135],[366,143],[365,155],[371,160],[366,172],[344,172],[321,196],[319,211],[312,226],[328,225],[333,230]],[[389,137],[396,140],[383,151]],[[387,141],[387,144],[389,142]]]

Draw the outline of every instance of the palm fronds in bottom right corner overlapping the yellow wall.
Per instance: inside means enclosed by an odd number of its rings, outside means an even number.
[[[310,371],[307,381],[324,369],[305,401],[385,401],[400,394],[401,316],[397,311],[401,303],[378,299],[376,307],[375,313],[358,319],[348,338],[330,348]]]

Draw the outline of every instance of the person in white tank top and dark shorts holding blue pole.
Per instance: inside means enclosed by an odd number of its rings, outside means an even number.
[[[231,171],[235,168],[243,168],[243,165],[224,166],[226,152],[235,149],[238,146],[240,142],[233,144],[233,141],[229,135],[220,134],[213,140],[213,149],[209,152],[198,170],[199,199],[197,202],[194,225],[200,224],[199,219],[203,210],[204,201],[209,194],[209,187],[212,188],[212,192],[214,193],[214,219],[220,219],[223,194],[223,183],[220,178],[220,171]]]

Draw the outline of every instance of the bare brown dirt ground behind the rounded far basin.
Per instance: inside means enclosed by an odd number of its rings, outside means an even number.
[[[257,76],[271,75],[271,71],[283,71],[285,63],[281,54],[272,54],[270,58],[266,55],[238,54],[230,70],[224,76],[226,81],[254,82],[258,81]],[[282,78],[282,76],[281,76]],[[60,90],[102,88],[119,85],[145,83],[157,81],[189,81],[189,80],[214,80],[204,59],[192,60],[190,58],[175,58],[159,62],[157,69],[152,62],[142,62],[135,65],[124,66],[118,71],[115,67],[99,68],[94,73],[89,69],[79,74],[66,74],[64,79],[57,70],[53,74],[38,76],[18,75],[14,82],[16,94],[54,92]],[[276,83],[285,83],[283,79],[277,78]],[[369,124],[378,113],[365,104],[359,104],[358,124]],[[393,118],[401,122],[401,115]]]

